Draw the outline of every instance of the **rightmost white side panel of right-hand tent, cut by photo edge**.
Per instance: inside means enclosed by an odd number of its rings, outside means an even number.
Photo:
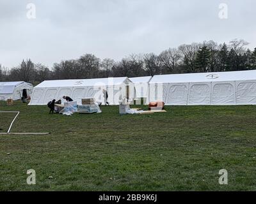
[[[239,105],[256,104],[256,80],[236,82],[236,103]]]

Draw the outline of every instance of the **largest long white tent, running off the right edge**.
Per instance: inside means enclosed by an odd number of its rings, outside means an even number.
[[[156,75],[150,101],[166,105],[256,105],[256,70]]]

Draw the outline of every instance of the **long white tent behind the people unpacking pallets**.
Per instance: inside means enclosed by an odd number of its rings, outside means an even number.
[[[34,88],[29,105],[47,105],[52,99],[64,102],[63,96],[69,96],[78,105],[83,98],[95,98],[104,104],[104,90],[108,91],[109,105],[119,105],[124,97],[133,97],[134,87],[127,77],[49,80]]]

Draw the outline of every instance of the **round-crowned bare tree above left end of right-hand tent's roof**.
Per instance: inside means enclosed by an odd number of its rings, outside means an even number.
[[[162,68],[168,69],[171,73],[175,69],[175,66],[178,65],[180,58],[181,53],[177,48],[169,48],[159,55],[159,61],[161,62]]]

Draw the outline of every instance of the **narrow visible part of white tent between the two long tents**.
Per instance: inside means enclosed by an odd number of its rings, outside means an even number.
[[[149,101],[149,82],[152,77],[133,77],[129,78],[134,84],[134,98],[146,98],[145,104]]]

